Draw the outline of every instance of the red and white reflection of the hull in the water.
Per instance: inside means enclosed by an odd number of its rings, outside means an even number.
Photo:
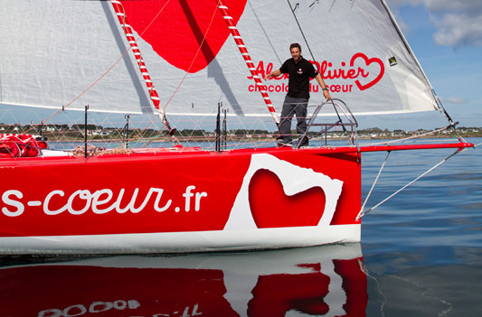
[[[368,298],[359,244],[4,266],[0,281],[2,317],[364,316]]]

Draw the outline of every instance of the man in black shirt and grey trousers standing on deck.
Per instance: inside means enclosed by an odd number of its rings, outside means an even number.
[[[323,96],[331,99],[330,93],[326,88],[325,81],[321,75],[315,70],[313,64],[301,56],[301,46],[298,43],[289,45],[291,59],[288,59],[281,65],[279,70],[273,70],[264,79],[271,79],[281,74],[288,73],[288,94],[283,103],[281,110],[281,120],[279,122],[279,133],[282,139],[279,146],[291,146],[291,119],[293,115],[297,116],[297,132],[298,135],[304,135],[307,131],[307,104],[309,99],[309,79],[317,79],[318,85],[323,89]],[[307,137],[302,141],[300,146],[307,146]]]

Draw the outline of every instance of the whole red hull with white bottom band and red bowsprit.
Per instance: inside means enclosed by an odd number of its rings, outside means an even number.
[[[361,154],[420,146],[152,149],[87,159],[3,159],[0,252],[194,252],[359,242]]]

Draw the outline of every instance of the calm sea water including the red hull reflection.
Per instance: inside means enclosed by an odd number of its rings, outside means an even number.
[[[452,152],[392,153],[366,207]],[[478,147],[450,158],[368,213],[361,244],[188,256],[0,257],[0,317],[480,316],[481,154]],[[385,156],[364,154],[363,197]]]

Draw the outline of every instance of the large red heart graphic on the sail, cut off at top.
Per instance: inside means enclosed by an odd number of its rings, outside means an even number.
[[[225,0],[238,23],[247,0]],[[214,0],[121,1],[128,23],[165,61],[194,73],[221,50],[230,30]],[[199,49],[201,46],[201,49]]]

